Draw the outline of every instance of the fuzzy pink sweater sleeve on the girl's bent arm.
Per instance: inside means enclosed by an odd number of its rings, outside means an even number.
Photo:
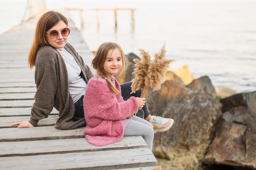
[[[108,83],[92,78],[85,91],[84,109],[85,115],[88,114],[86,116],[121,120],[134,114],[138,110],[138,103],[135,97],[128,101],[118,101],[110,91]]]

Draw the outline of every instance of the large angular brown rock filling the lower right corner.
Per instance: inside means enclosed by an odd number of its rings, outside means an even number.
[[[256,169],[256,92],[220,100],[222,121],[204,163]]]

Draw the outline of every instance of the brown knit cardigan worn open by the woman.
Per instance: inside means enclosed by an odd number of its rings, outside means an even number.
[[[81,76],[88,83],[93,76],[88,65],[72,45],[64,47],[81,67]],[[36,94],[35,103],[31,108],[29,123],[36,126],[40,119],[47,118],[53,107],[58,110],[59,118],[55,127],[60,130],[70,130],[85,126],[85,119],[74,117],[75,106],[69,93],[67,68],[59,52],[51,46],[43,46],[36,55],[35,69]]]

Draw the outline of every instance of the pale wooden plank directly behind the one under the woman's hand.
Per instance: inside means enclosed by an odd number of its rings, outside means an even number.
[[[30,116],[31,107],[1,108],[0,116]],[[58,110],[53,108],[50,114],[58,114]]]

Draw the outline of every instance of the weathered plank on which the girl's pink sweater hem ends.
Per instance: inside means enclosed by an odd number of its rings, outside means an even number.
[[[69,152],[96,152],[134,148],[147,148],[147,144],[142,136],[124,136],[119,142],[105,146],[94,146],[88,143],[85,138],[0,142],[0,157],[61,154]]]

